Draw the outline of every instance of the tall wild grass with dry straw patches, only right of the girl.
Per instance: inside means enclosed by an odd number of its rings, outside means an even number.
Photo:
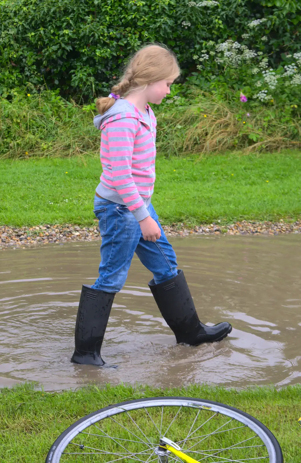
[[[226,150],[247,154],[301,146],[301,125],[297,119],[279,121],[277,113],[273,115],[265,108],[252,116],[239,114],[234,105],[206,94],[199,95],[197,103],[159,113],[158,127],[160,150],[168,154]]]

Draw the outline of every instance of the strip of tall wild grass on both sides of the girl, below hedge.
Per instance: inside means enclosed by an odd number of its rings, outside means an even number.
[[[169,103],[153,105],[157,151],[166,156],[301,147],[300,121],[283,116],[281,109],[262,107],[248,117],[238,103],[197,88]],[[94,103],[78,106],[47,90],[16,94],[11,101],[0,98],[0,158],[96,153],[95,114]]]

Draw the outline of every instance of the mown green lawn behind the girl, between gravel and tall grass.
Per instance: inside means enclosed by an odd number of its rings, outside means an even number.
[[[7,159],[0,161],[0,172],[0,224],[93,223],[98,156]],[[156,174],[153,204],[163,224],[301,215],[300,151],[157,156]]]

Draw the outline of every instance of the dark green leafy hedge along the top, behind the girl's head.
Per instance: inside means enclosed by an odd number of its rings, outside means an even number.
[[[301,49],[298,0],[0,0],[0,94],[47,84],[63,96],[106,94],[142,44],[157,41],[179,58],[183,77],[196,71],[204,42],[239,39],[248,24],[267,35],[279,64]],[[183,25],[183,22],[188,23]]]

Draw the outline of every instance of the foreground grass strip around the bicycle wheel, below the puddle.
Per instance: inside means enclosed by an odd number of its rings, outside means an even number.
[[[297,424],[301,416],[300,385],[280,390],[202,385],[173,389],[107,385],[102,389],[90,385],[76,391],[51,393],[23,384],[0,390],[1,462],[42,463],[55,438],[84,415],[124,400],[163,395],[209,399],[243,410],[274,433],[283,449],[285,463],[301,461],[301,428]],[[150,428],[146,423],[144,432]]]

